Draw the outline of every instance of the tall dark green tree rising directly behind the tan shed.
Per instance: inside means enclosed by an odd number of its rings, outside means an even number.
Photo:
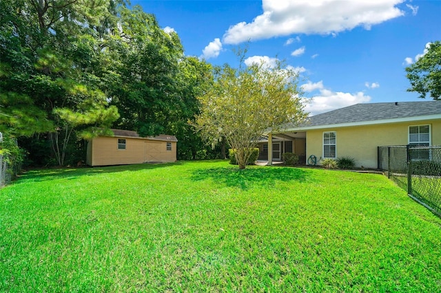
[[[175,32],[164,32],[152,14],[140,6],[120,9],[121,19],[112,35],[112,50],[119,64],[108,92],[121,118],[116,126],[140,135],[165,131],[167,120],[180,106],[178,63],[183,48]]]

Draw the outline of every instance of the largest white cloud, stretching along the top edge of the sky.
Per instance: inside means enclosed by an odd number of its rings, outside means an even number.
[[[404,15],[404,0],[263,0],[263,14],[230,26],[223,42],[238,44],[289,34],[336,34]]]

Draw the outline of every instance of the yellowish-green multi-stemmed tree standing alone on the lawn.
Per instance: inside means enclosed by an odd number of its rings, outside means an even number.
[[[199,98],[196,125],[207,140],[225,138],[236,149],[239,168],[245,169],[265,130],[300,122],[307,113],[296,72],[280,63],[273,68],[263,62],[245,66],[245,54],[238,55],[240,67],[224,65],[216,73],[214,86]]]

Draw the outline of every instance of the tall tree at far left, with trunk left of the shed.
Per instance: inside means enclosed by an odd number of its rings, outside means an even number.
[[[111,14],[107,10],[110,3],[113,1],[0,3],[4,8],[0,10],[0,38],[5,41],[0,46],[1,72],[5,72],[0,74],[0,102],[8,102],[8,111],[21,121],[33,120],[34,127],[18,135],[50,133],[59,164],[64,164],[72,133],[81,131],[76,138],[94,135],[92,127],[109,127],[109,121],[118,118],[116,107],[108,107],[107,97],[93,89],[101,83],[98,68],[105,54],[95,28]],[[11,96],[16,97],[12,102],[8,99]],[[23,105],[32,112],[21,111]]]

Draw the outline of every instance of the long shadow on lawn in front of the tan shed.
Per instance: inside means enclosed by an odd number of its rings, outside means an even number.
[[[27,180],[35,182],[48,181],[48,180],[73,180],[81,176],[93,176],[105,173],[118,173],[118,172],[132,172],[148,169],[158,169],[167,166],[182,165],[185,162],[174,163],[145,163],[145,164],[131,164],[131,165],[119,165],[119,166],[98,166],[98,167],[81,167],[81,168],[57,168],[57,169],[39,169],[25,171],[19,177],[23,177]]]

